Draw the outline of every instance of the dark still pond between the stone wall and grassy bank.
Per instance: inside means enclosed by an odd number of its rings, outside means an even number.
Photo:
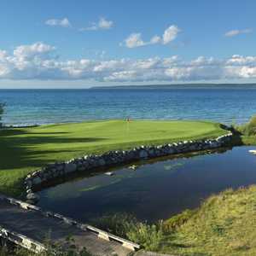
[[[249,149],[148,160],[136,163],[136,170],[113,169],[113,176],[76,177],[38,192],[38,205],[89,223],[113,212],[148,222],[170,218],[213,193],[256,183],[256,156]]]

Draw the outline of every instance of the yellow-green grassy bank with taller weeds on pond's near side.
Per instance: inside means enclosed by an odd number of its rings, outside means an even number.
[[[256,255],[256,186],[212,195],[198,209],[156,224],[125,213],[97,219],[104,230],[145,250],[178,256]]]

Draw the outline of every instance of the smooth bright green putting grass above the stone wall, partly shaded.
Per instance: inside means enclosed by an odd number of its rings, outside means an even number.
[[[20,195],[27,173],[56,160],[137,145],[218,137],[219,124],[203,121],[94,121],[0,131],[0,192]]]

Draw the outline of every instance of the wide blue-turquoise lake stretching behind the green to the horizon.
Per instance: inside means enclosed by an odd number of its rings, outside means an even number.
[[[256,113],[256,87],[220,89],[0,90],[8,125],[88,119],[210,119],[246,122]]]

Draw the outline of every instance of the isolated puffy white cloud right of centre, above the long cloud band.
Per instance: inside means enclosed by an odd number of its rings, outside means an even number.
[[[169,44],[175,38],[181,30],[175,26],[169,26],[163,33],[162,37],[155,35],[148,42],[144,41],[141,33],[131,33],[131,35],[125,39],[125,46],[128,48],[136,48],[140,46],[145,46],[149,44]],[[122,45],[122,44],[121,44]]]

